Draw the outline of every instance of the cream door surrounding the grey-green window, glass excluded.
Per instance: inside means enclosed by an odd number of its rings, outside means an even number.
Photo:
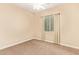
[[[60,30],[59,30],[59,19],[60,19],[60,14],[54,14],[52,15],[53,18],[52,18],[52,27],[53,27],[53,30],[51,31],[45,31],[45,18],[43,19],[43,36],[44,36],[44,40],[45,41],[48,41],[48,42],[52,42],[52,43],[59,43],[60,42]],[[51,27],[51,26],[49,26]]]

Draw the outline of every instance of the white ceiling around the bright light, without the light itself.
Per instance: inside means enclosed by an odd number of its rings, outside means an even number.
[[[21,8],[24,8],[24,9],[27,9],[31,12],[37,12],[37,11],[42,11],[43,9],[41,10],[34,10],[33,9],[33,3],[17,3],[16,4],[17,6],[21,7]],[[57,5],[60,5],[59,3],[45,3],[43,6],[48,9],[48,8],[53,8]],[[45,9],[44,9],[45,10]]]

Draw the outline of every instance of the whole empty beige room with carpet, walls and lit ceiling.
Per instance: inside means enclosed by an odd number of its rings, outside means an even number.
[[[0,3],[0,55],[79,55],[79,3]]]

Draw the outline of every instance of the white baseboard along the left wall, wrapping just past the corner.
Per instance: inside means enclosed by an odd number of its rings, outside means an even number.
[[[20,43],[23,43],[23,42],[26,42],[26,41],[29,41],[29,40],[32,40],[32,39],[41,40],[40,37],[32,36],[32,37],[29,37],[29,38],[20,39],[18,41],[13,41],[12,43],[9,43],[9,44],[5,44],[5,45],[0,47],[0,50],[14,46],[14,45],[17,45],[17,44],[20,44]]]

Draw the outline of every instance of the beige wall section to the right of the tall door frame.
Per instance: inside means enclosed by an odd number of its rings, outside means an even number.
[[[79,49],[79,4],[64,5],[61,44]]]

